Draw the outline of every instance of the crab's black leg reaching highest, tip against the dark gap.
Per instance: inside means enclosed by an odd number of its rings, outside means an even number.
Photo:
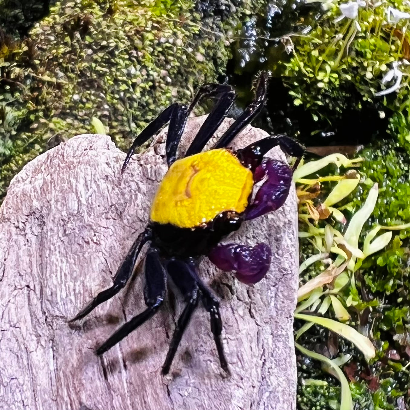
[[[253,119],[260,113],[263,104],[266,100],[266,92],[268,89],[268,74],[262,73],[259,77],[255,98],[251,104],[249,104],[237,120],[225,131],[221,139],[214,145],[213,148],[224,148],[230,144],[230,142],[243,130],[246,125],[251,123]]]

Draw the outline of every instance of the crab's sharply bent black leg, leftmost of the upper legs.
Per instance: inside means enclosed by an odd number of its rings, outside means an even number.
[[[176,145],[176,147],[178,147],[179,140],[181,139],[182,132],[184,131],[187,116],[187,108],[184,105],[179,105],[178,103],[173,103],[169,107],[164,109],[164,111],[159,114],[159,116],[157,116],[157,118],[155,118],[152,123],[148,124],[146,128],[142,130],[141,134],[139,134],[138,137],[134,139],[131,148],[128,150],[127,156],[125,157],[123,166],[121,168],[121,173],[124,172],[128,162],[130,162],[135,148],[148,141],[148,139],[153,137],[169,121],[172,122],[173,126],[170,126],[168,129],[166,146],[168,146],[168,148],[171,150],[171,156],[174,150],[174,146]],[[170,139],[169,142],[168,139]]]

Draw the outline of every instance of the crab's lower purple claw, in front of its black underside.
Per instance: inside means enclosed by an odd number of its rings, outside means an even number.
[[[219,269],[236,271],[237,279],[250,285],[266,275],[271,263],[271,248],[266,244],[253,247],[226,244],[213,248],[208,257]]]

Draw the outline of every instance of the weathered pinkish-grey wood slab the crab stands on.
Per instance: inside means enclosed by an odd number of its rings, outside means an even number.
[[[188,122],[185,147],[203,120]],[[217,134],[231,122],[225,120]],[[236,145],[264,135],[247,127]],[[97,358],[93,349],[125,318],[144,309],[141,263],[118,296],[77,326],[68,326],[68,319],[111,284],[144,229],[166,172],[163,141],[160,136],[135,155],[121,176],[125,154],[109,137],[80,135],[37,157],[14,178],[0,208],[0,409],[296,408],[294,190],[280,210],[244,223],[230,238],[271,245],[271,269],[264,280],[248,287],[207,259],[201,262],[201,276],[221,298],[230,377],[219,368],[209,317],[201,307],[170,375],[160,375],[182,309],[178,298],[175,311],[168,302],[154,319]],[[284,158],[279,150],[271,153]]]

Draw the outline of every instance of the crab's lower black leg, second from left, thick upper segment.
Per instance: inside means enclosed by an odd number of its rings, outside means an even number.
[[[96,353],[98,355],[105,353],[125,336],[129,335],[133,330],[150,319],[150,317],[153,317],[162,305],[166,293],[166,273],[159,260],[158,250],[154,247],[151,247],[147,252],[145,278],[144,299],[148,308],[124,323],[121,328],[109,337],[107,341],[97,349]]]

